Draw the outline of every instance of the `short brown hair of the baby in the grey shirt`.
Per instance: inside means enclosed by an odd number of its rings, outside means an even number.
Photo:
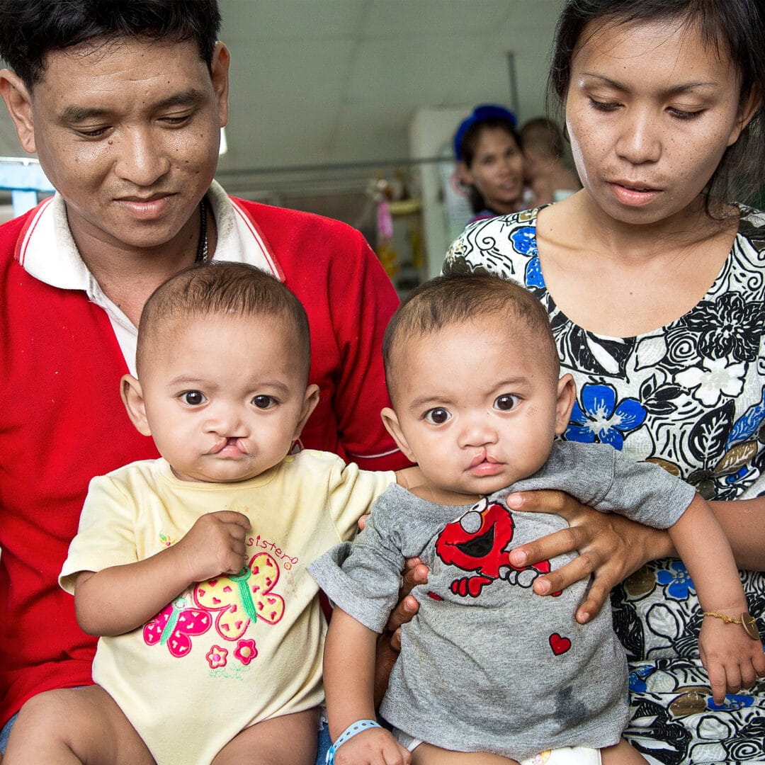
[[[414,337],[431,334],[449,324],[473,322],[482,316],[505,317],[509,332],[522,324],[536,339],[529,353],[543,357],[557,380],[560,361],[550,319],[544,306],[518,282],[488,274],[448,274],[430,279],[405,298],[393,314],[382,340],[386,383],[392,397],[394,356]]]

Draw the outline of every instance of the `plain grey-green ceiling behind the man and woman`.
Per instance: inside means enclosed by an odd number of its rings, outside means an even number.
[[[420,107],[543,111],[561,0],[220,0],[232,54],[226,187],[278,168],[409,157]],[[511,94],[507,54],[515,64]],[[2,109],[0,155],[20,153]],[[298,170],[303,168],[303,170]]]

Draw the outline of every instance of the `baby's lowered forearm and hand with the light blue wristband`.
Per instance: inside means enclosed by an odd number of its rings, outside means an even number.
[[[377,635],[335,607],[324,649],[324,690],[332,741],[351,724],[374,720]],[[384,728],[369,728],[337,749],[338,765],[407,765],[412,756]]]

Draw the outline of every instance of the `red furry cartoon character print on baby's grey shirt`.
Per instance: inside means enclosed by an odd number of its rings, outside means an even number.
[[[539,574],[550,571],[549,561],[522,568],[510,563],[509,543],[513,539],[513,528],[510,511],[500,503],[489,503],[486,499],[444,526],[436,539],[436,555],[447,565],[476,572],[451,582],[450,589],[455,595],[478,597],[480,591],[496,579],[529,588]]]

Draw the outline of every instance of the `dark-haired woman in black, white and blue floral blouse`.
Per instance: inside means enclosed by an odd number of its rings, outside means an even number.
[[[765,632],[765,213],[728,203],[765,174],[763,29],[760,0],[568,0],[551,82],[584,188],[468,227],[444,272],[511,276],[539,296],[578,385],[564,437],[656,462],[714,500]],[[578,549],[546,578],[549,593],[594,573],[578,620],[626,578],[612,604],[633,746],[651,763],[765,762],[765,682],[712,701],[705,617],[666,534],[562,493],[516,499],[569,520],[513,562]]]

